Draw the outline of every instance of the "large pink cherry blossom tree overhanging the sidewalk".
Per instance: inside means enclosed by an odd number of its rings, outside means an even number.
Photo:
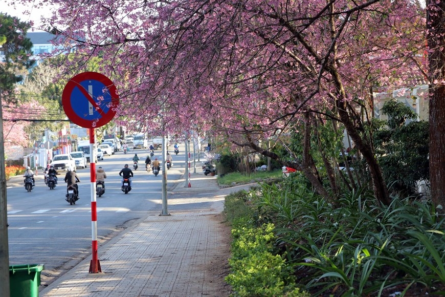
[[[315,117],[338,121],[368,165],[375,197],[390,202],[366,125],[373,88],[425,79],[425,12],[409,0],[51,3],[58,9],[44,21],[61,52],[76,52],[64,65],[81,72],[101,56],[130,125],[157,134],[198,125],[279,159],[257,140],[296,124],[310,134]],[[281,161],[327,195],[309,147],[303,155]]]

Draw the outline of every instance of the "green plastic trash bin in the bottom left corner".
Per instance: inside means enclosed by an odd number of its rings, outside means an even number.
[[[10,297],[38,297],[43,264],[9,266]]]

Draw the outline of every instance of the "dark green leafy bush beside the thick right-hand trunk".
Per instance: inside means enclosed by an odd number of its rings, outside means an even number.
[[[428,122],[406,124],[416,115],[402,102],[388,101],[382,112],[389,120],[375,124],[379,128],[373,135],[377,159],[387,184],[395,192],[412,195],[418,180],[429,180]]]

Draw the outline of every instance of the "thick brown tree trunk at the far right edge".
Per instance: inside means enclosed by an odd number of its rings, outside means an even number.
[[[431,199],[445,206],[445,2],[427,1]]]

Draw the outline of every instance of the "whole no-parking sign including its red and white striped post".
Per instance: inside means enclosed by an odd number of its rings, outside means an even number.
[[[114,83],[97,72],[83,72],[72,77],[62,93],[62,106],[68,118],[75,124],[90,129],[90,192],[92,260],[90,273],[102,272],[97,253],[97,207],[96,207],[96,148],[94,129],[114,118],[119,105],[119,96]]]

